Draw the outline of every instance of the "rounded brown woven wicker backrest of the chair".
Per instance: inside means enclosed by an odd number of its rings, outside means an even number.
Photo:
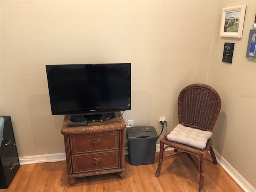
[[[206,84],[186,86],[178,98],[179,123],[212,131],[220,108],[220,96],[211,86]]]

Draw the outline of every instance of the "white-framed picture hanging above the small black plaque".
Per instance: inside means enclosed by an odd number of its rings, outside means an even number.
[[[246,5],[223,8],[221,37],[242,38]]]

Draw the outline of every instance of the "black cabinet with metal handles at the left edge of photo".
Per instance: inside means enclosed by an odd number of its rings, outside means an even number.
[[[20,168],[10,116],[4,116],[3,140],[0,148],[1,189],[8,188]]]

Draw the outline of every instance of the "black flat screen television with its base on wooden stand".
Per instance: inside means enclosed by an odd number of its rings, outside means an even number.
[[[130,63],[46,65],[46,74],[53,115],[87,124],[131,109]]]

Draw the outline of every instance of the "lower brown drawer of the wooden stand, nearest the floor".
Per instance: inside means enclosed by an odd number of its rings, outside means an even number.
[[[119,150],[103,153],[72,155],[73,173],[120,168]]]

